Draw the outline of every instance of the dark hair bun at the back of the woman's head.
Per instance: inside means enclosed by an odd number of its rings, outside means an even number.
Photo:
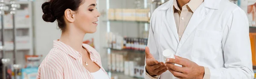
[[[54,22],[56,19],[55,17],[52,15],[52,11],[50,9],[50,3],[49,2],[45,2],[42,4],[42,10],[43,10],[43,20],[46,22]]]

